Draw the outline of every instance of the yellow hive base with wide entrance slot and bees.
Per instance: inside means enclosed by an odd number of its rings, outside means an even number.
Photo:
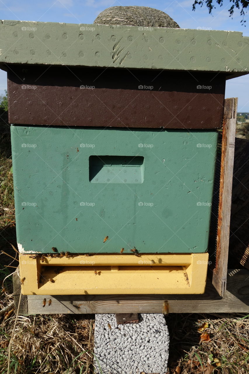
[[[24,295],[202,294],[207,253],[76,255],[30,258],[19,255]]]

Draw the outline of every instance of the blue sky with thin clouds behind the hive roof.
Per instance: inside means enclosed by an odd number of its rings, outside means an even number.
[[[96,16],[110,6],[139,5],[150,6],[169,14],[181,28],[211,28],[212,30],[241,31],[249,36],[249,17],[245,16],[247,27],[241,25],[239,10],[235,10],[233,18],[229,17],[229,0],[223,0],[209,15],[206,6],[192,11],[194,0],[169,1],[113,1],[113,0],[0,0],[0,18],[18,19],[21,21],[93,23]],[[249,56],[248,56],[249,58]],[[7,88],[7,74],[0,70],[0,93]],[[249,112],[249,74],[227,81],[226,97],[238,97],[238,111]]]

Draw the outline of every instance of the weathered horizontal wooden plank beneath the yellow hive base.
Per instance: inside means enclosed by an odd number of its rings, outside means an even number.
[[[208,281],[203,295],[29,295],[28,313],[162,313],[164,300],[170,313],[249,313],[249,271],[228,270],[223,298]]]

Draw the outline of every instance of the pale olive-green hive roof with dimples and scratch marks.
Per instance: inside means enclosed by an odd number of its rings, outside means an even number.
[[[249,37],[235,31],[1,21],[0,67],[80,65],[249,72]]]

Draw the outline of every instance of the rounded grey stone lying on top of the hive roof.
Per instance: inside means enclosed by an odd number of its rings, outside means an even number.
[[[179,28],[179,25],[165,12],[148,6],[112,6],[99,13],[94,23]]]

